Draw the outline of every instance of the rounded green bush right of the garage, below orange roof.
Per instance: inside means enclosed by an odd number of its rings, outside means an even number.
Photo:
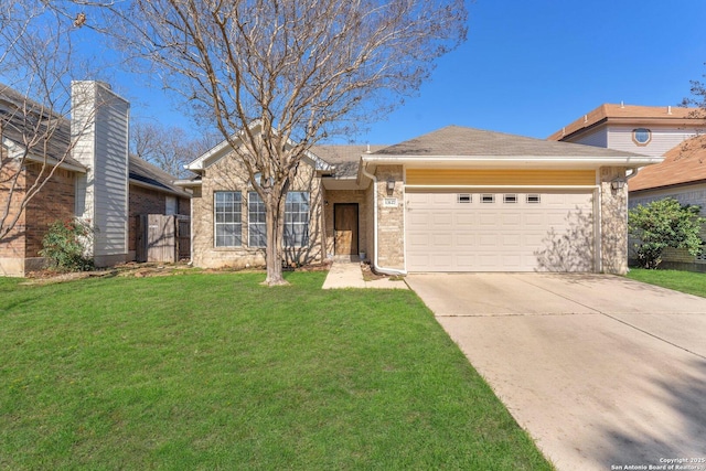
[[[656,269],[667,247],[686,248],[696,256],[704,240],[699,233],[706,220],[696,205],[682,205],[673,197],[638,205],[628,213],[628,232],[637,239],[633,253],[642,268]]]

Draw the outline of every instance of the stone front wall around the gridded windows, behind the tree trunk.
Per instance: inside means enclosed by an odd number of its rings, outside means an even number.
[[[265,249],[248,247],[247,193],[249,192],[247,170],[231,154],[208,167],[202,179],[200,191],[192,199],[192,260],[204,268],[246,268],[265,265]],[[243,196],[242,239],[239,247],[215,247],[213,202],[216,191],[239,191]],[[311,264],[322,261],[324,257],[323,234],[323,192],[321,179],[314,169],[302,162],[299,174],[290,185],[290,191],[308,191],[309,200],[309,246],[285,249],[285,263]]]

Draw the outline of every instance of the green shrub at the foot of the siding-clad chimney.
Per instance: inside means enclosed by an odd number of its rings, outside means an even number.
[[[40,255],[51,260],[60,271],[87,271],[94,268],[93,258],[86,256],[85,244],[93,239],[95,229],[81,220],[56,221],[42,239]]]

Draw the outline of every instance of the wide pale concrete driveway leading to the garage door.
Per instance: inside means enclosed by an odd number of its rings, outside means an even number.
[[[557,469],[706,471],[706,299],[602,275],[407,282]]]

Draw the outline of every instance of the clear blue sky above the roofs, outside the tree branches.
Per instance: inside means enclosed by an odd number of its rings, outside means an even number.
[[[706,73],[704,0],[475,0],[468,41],[361,143],[448,126],[546,138],[602,103],[667,106]],[[120,83],[132,115],[189,127],[159,90]]]

